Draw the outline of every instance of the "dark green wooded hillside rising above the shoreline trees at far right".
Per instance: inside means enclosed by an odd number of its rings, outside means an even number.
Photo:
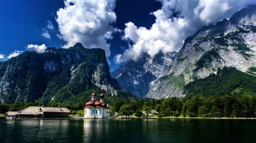
[[[253,70],[254,68],[250,68]],[[238,71],[233,67],[224,67],[218,69],[216,75],[212,75],[204,79],[196,79],[185,85],[184,91],[191,96],[223,96],[223,95],[239,95],[239,96],[256,96],[256,76],[249,69],[251,75]]]

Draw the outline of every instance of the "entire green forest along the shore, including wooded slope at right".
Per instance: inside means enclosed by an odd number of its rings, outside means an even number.
[[[104,102],[110,107],[110,114],[132,117],[154,118],[255,118],[256,117],[256,77],[250,68],[248,73],[225,67],[205,79],[197,79],[185,85],[185,97],[149,99],[120,92],[118,96],[106,93]],[[0,103],[1,114],[20,111],[28,106],[67,107],[72,115],[83,115],[85,103],[90,94],[101,90],[87,90],[80,102],[15,102]]]

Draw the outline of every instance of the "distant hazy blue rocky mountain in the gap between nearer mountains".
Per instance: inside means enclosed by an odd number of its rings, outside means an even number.
[[[155,57],[143,54],[123,64],[122,67],[111,72],[111,75],[126,92],[145,97],[152,81],[166,75],[168,69],[174,64],[176,53],[158,53]]]

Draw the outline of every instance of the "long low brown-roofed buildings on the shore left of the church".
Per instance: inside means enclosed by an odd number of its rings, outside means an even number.
[[[6,118],[12,112],[6,112]],[[15,118],[69,118],[70,111],[61,107],[36,107],[30,106],[22,111],[15,112]]]

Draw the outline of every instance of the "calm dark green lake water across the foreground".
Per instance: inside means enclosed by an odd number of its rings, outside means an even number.
[[[256,142],[256,120],[0,119],[0,142]]]

